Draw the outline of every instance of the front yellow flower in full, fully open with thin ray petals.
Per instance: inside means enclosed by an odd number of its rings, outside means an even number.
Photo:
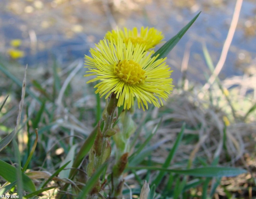
[[[163,105],[173,90],[170,68],[164,62],[166,58],[156,60],[151,58],[152,52],[147,53],[145,46],[134,46],[128,42],[127,46],[121,39],[117,42],[103,39],[90,49],[92,57],[85,56],[85,65],[90,74],[96,75],[87,83],[100,81],[94,88],[100,97],[114,92],[118,99],[117,106],[124,104],[124,109],[130,109],[137,98],[138,107],[147,103],[154,106]],[[160,103],[159,103],[160,101]]]

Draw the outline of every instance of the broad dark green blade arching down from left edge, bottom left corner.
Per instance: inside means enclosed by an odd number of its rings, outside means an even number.
[[[2,178],[4,178],[10,183],[17,181],[17,170],[15,167],[8,164],[7,162],[0,160],[0,168],[0,176],[2,176]],[[26,174],[22,173],[21,175],[24,190],[27,192],[36,191],[36,187],[33,181],[30,178],[28,178]]]

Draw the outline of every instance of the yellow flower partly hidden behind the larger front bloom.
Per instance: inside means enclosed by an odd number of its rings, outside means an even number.
[[[145,51],[153,49],[161,42],[162,39],[164,39],[162,32],[156,30],[155,28],[144,28],[143,26],[140,29],[140,33],[138,32],[137,28],[133,28],[133,30],[123,28],[123,30],[112,30],[112,32],[107,32],[105,37],[115,42],[121,38],[126,45],[130,40],[135,46],[139,44],[145,47]]]

